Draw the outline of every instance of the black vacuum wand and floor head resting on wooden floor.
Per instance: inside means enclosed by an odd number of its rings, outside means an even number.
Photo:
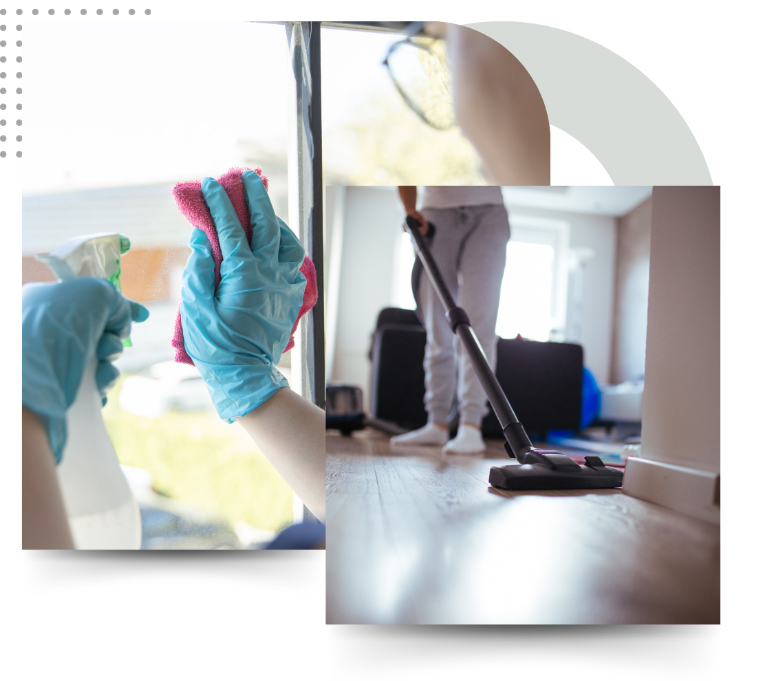
[[[505,437],[505,451],[508,456],[519,462],[518,465],[493,466],[489,471],[489,483],[492,487],[506,490],[557,490],[557,489],[603,489],[621,487],[624,474],[615,468],[605,466],[599,457],[584,457],[586,463],[581,466],[563,453],[553,450],[539,450],[533,447],[529,436],[516,418],[505,397],[494,372],[489,367],[486,355],[481,349],[478,338],[471,329],[467,314],[454,302],[440,275],[438,266],[430,249],[420,234],[420,223],[413,217],[406,217],[406,229],[414,238],[417,255],[430,277],[446,310],[449,326],[459,337],[462,346],[471,360],[474,371],[481,382],[491,404],[492,410],[502,426]]]

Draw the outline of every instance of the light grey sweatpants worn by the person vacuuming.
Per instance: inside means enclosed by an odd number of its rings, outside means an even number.
[[[422,214],[436,228],[430,252],[457,305],[467,312],[494,371],[495,323],[505,247],[511,235],[505,207],[426,208]],[[444,306],[425,272],[420,275],[418,294],[417,307],[427,331],[424,368],[428,416],[447,423],[456,384],[460,423],[480,426],[487,412],[486,393],[450,329]]]

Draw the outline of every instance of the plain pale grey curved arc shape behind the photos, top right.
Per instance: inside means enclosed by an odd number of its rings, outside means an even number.
[[[614,184],[709,185],[694,133],[646,74],[607,47],[551,26],[475,22],[518,59],[551,125],[572,135]]]

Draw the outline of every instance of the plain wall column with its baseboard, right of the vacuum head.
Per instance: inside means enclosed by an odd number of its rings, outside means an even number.
[[[721,188],[653,187],[642,453],[624,491],[721,522]]]

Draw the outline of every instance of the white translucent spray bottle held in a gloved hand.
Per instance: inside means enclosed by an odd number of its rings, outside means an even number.
[[[128,238],[106,232],[70,239],[37,258],[60,281],[94,276],[120,291],[121,256],[128,250]],[[57,466],[70,531],[77,549],[139,549],[139,507],[102,420],[96,370],[95,354],[87,358],[75,402],[67,409],[67,443]]]

